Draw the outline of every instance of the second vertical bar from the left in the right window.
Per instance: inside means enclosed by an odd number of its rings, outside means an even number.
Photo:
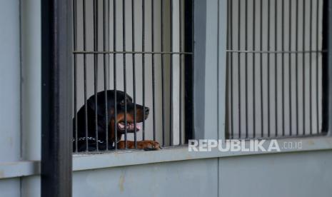
[[[238,0],[238,50],[241,50],[241,0]],[[241,138],[241,54],[238,54],[238,138]]]

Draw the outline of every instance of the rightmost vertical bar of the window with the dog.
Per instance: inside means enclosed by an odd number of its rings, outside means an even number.
[[[178,18],[179,18],[179,34],[180,34],[180,37],[179,37],[179,48],[180,48],[180,53],[182,52],[182,1],[179,0],[178,1]],[[179,58],[179,70],[180,70],[180,76],[179,76],[179,81],[180,81],[180,90],[179,90],[179,108],[178,108],[178,124],[179,124],[179,127],[178,127],[178,145],[181,145],[182,144],[182,59],[181,59],[181,54],[179,54],[178,58]]]

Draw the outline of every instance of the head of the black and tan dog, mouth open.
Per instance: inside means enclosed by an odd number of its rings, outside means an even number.
[[[105,102],[106,100],[107,102]],[[107,106],[105,103],[107,103]],[[110,131],[114,131],[114,123],[116,123],[116,129],[119,134],[125,133],[125,130],[127,130],[127,133],[134,133],[135,130],[139,131],[137,123],[141,123],[149,116],[149,107],[135,104],[133,98],[128,94],[124,94],[123,91],[107,91],[107,98],[105,92],[101,91],[97,94],[97,105],[95,97],[91,96],[88,100],[88,106],[94,111],[97,106],[99,125],[104,126],[106,126],[106,109]],[[136,125],[134,124],[135,111]],[[127,124],[125,124],[125,121]]]

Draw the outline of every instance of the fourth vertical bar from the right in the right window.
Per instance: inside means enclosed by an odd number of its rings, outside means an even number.
[[[296,44],[295,44],[295,51],[297,51],[298,50],[298,0],[296,0],[296,19],[295,19],[295,21],[296,21]],[[298,136],[298,125],[299,125],[299,122],[298,122],[298,54],[296,54],[296,59],[295,59],[295,65],[296,65],[296,67],[295,67],[295,74],[296,74],[296,76],[295,76],[295,78],[296,78],[296,136]]]

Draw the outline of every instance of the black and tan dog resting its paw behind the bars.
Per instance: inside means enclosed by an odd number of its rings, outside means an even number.
[[[105,101],[105,94],[107,94],[107,101]],[[97,105],[95,100],[97,100]],[[86,101],[86,105],[82,106],[79,109],[79,112],[76,116],[77,123],[76,119],[73,118],[73,150],[76,151],[76,140],[77,151],[79,152],[96,151],[97,144],[99,151],[106,150],[106,128],[108,128],[109,131],[109,149],[114,149],[115,143],[117,145],[117,148],[119,149],[135,148],[134,141],[121,141],[121,137],[125,134],[125,130],[127,130],[127,133],[134,133],[136,131],[139,131],[140,128],[137,123],[141,123],[142,121],[144,121],[144,119],[148,118],[149,107],[144,107],[136,104],[136,125],[134,125],[134,108],[135,103],[133,103],[133,99],[131,98],[131,96],[125,94],[123,91],[100,91],[96,95],[91,96]],[[96,136],[96,113],[98,138]],[[125,125],[125,117],[127,125]],[[114,126],[115,123],[116,126]],[[115,135],[115,133],[117,135]],[[161,149],[161,146],[157,141],[151,140],[137,141],[136,145],[138,149],[144,149],[146,151]]]

